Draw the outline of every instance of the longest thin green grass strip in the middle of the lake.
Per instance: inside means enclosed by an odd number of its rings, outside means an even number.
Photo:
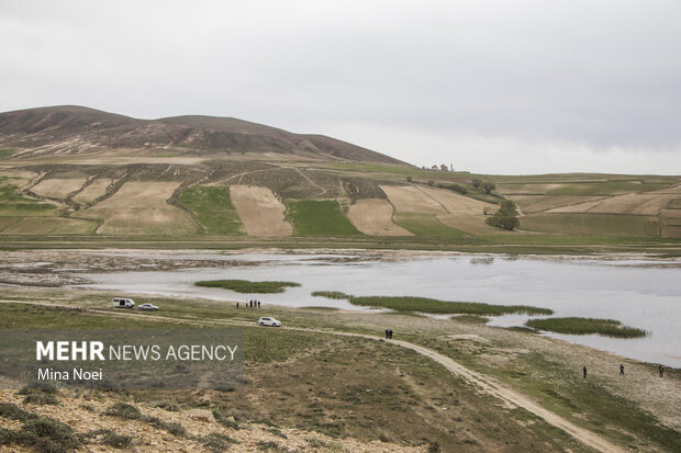
[[[437,315],[468,314],[499,316],[506,314],[551,315],[548,308],[526,305],[491,305],[479,302],[445,302],[428,297],[368,296],[350,297],[350,304],[375,308],[390,308],[398,312],[421,312]]]

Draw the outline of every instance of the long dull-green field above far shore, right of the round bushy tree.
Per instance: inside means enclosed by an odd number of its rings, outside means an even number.
[[[628,214],[534,214],[521,217],[520,229],[563,235],[657,237],[657,217]]]

